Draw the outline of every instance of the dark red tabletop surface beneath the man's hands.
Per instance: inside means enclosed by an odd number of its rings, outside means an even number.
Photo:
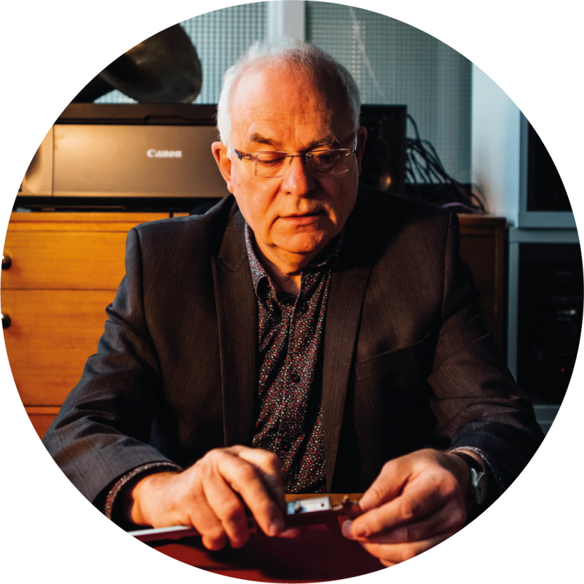
[[[341,535],[337,524],[308,526],[293,539],[251,534],[238,550],[206,550],[199,537],[152,546],[161,554],[199,570],[252,582],[329,582],[384,569],[359,543]]]

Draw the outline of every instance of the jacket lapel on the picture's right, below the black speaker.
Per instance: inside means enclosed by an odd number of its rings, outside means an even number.
[[[346,225],[341,261],[333,271],[326,308],[322,423],[328,493],[333,482],[361,306],[373,258],[374,241],[364,221],[366,214],[358,198]]]

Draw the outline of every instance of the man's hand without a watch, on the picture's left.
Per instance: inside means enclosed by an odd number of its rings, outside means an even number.
[[[234,446],[209,451],[182,473],[157,473],[130,493],[128,518],[153,528],[192,526],[209,550],[249,539],[245,505],[266,535],[284,530],[284,486],[275,454]]]

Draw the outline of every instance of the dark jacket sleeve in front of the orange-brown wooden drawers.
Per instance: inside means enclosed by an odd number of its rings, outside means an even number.
[[[126,276],[106,308],[96,355],[43,438],[69,482],[91,503],[136,467],[172,462],[148,445],[161,405],[157,353],[144,316],[142,254],[138,233],[126,243]]]

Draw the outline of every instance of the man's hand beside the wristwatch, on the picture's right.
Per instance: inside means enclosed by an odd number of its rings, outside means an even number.
[[[363,495],[363,515],[343,524],[383,565],[415,558],[458,533],[467,520],[470,471],[460,457],[425,449],[386,463]]]

